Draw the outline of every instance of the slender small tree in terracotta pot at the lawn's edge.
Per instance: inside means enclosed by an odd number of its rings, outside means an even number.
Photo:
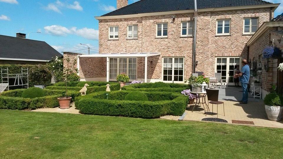
[[[72,97],[67,97],[68,92],[68,83],[72,81],[79,81],[80,77],[77,75],[78,69],[75,68],[75,64],[77,63],[77,60],[75,59],[72,66],[70,66],[70,59],[65,59],[67,62],[67,67],[63,68],[63,71],[61,73],[58,73],[58,76],[60,79],[62,79],[65,82],[66,85],[66,93],[65,97],[57,98],[59,101],[60,109],[68,109],[70,108]]]

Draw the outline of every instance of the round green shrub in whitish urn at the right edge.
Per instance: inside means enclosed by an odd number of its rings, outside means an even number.
[[[282,119],[283,97],[276,92],[272,92],[264,98],[265,112],[271,121],[279,121]]]

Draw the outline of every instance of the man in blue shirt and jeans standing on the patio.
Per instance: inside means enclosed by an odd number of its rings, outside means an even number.
[[[243,89],[243,97],[242,100],[239,101],[240,104],[248,103],[248,84],[250,80],[250,67],[248,65],[248,61],[246,59],[242,60],[242,71],[239,74],[235,74],[234,78],[240,77],[240,82],[242,84]]]

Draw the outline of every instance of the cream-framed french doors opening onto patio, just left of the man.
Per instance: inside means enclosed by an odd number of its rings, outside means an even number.
[[[221,73],[221,80],[234,85],[234,70],[239,67],[241,70],[241,57],[216,57],[215,72]],[[228,81],[227,81],[228,80]]]

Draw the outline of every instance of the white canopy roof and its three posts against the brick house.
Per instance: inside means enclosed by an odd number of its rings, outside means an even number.
[[[106,82],[109,82],[109,57],[144,57],[144,83],[147,83],[147,57],[158,56],[160,53],[102,53],[77,56],[78,75],[80,75],[80,57],[106,57]]]

